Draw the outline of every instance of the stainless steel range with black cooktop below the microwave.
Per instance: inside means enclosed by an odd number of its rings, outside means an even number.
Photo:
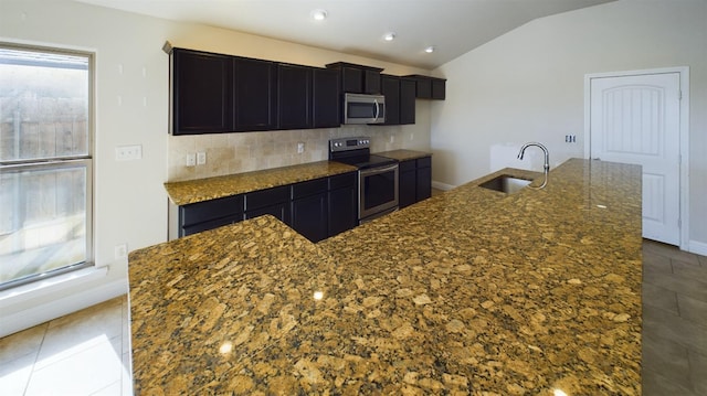
[[[369,137],[329,140],[329,160],[358,168],[358,220],[398,210],[398,161],[370,153]]]

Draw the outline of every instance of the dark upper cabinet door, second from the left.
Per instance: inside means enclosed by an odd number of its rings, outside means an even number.
[[[246,58],[234,63],[235,130],[277,129],[277,65]]]

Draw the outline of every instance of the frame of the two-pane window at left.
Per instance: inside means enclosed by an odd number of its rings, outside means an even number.
[[[95,267],[95,213],[94,213],[94,199],[95,199],[95,179],[94,179],[94,161],[95,161],[95,131],[96,131],[96,117],[95,117],[95,83],[96,83],[96,53],[93,51],[82,51],[76,49],[66,49],[61,46],[46,46],[24,43],[13,43],[0,41],[0,49],[15,50],[25,52],[41,52],[57,55],[81,56],[87,60],[87,111],[86,117],[86,153],[82,156],[65,156],[65,157],[44,157],[41,159],[15,159],[15,160],[0,160],[0,170],[3,172],[17,172],[27,170],[49,170],[49,169],[62,169],[72,168],[77,164],[83,165],[86,171],[85,180],[85,223],[86,223],[86,246],[85,246],[85,260],[75,263],[64,267],[51,269],[49,271],[34,274],[23,278],[14,279],[0,283],[0,291],[11,289],[18,286],[32,283],[35,281],[45,280],[49,277],[54,277],[78,270],[87,267]]]

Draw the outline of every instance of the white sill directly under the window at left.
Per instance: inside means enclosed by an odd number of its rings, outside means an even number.
[[[105,277],[108,267],[89,267],[0,291],[0,309]]]

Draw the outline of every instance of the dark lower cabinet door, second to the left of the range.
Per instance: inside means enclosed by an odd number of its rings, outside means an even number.
[[[326,191],[292,202],[292,227],[312,242],[327,237]]]

